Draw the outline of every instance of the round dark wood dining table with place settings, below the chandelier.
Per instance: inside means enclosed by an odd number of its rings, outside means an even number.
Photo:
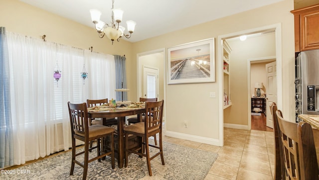
[[[117,118],[117,160],[119,168],[123,168],[124,165],[124,132],[125,117],[131,115],[137,115],[138,119],[142,121],[141,114],[145,113],[145,107],[101,107],[97,110],[88,108],[89,118]]]

